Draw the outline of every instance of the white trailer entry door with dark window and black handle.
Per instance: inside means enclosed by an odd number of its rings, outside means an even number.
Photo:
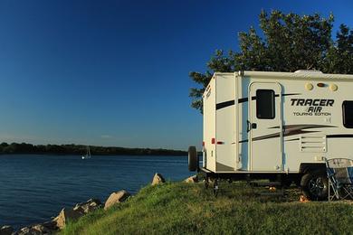
[[[252,171],[282,170],[281,85],[253,82],[249,86],[248,139]]]

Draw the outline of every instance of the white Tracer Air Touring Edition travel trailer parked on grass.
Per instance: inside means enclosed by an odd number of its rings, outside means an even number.
[[[325,199],[326,160],[353,159],[353,75],[216,72],[203,104],[202,166],[190,146],[189,170],[214,182],[267,178]]]

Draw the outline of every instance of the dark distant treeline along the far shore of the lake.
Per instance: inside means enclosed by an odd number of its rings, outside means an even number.
[[[82,145],[31,145],[26,143],[2,143],[0,154],[56,154],[85,155],[87,146]],[[91,155],[187,155],[186,151],[114,146],[90,146]]]

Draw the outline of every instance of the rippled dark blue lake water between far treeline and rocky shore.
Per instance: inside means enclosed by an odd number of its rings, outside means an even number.
[[[137,193],[155,173],[185,179],[187,156],[0,155],[0,226],[50,221],[64,206],[104,202],[121,189]]]

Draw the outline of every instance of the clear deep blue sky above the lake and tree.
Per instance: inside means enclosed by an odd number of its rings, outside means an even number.
[[[353,28],[351,1],[1,1],[0,142],[200,146],[188,72],[262,9]]]

